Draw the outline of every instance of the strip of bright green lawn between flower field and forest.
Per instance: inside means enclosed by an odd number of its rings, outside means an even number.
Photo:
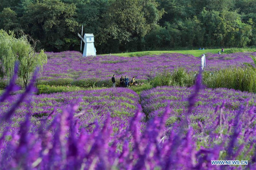
[[[174,50],[174,51],[140,51],[132,53],[116,53],[112,54],[115,56],[133,57],[133,56],[145,56],[145,55],[159,55],[163,53],[181,53],[181,54],[192,54],[196,57],[201,56],[204,53],[218,53],[221,49],[205,49],[205,50]],[[254,52],[256,49],[224,49],[224,53],[237,53],[237,52]],[[108,54],[102,54],[108,55]]]

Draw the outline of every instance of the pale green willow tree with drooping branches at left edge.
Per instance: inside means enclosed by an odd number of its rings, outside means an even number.
[[[0,76],[9,79],[14,73],[15,62],[19,62],[18,76],[23,79],[24,86],[35,71],[36,67],[42,69],[47,63],[44,50],[36,50],[39,41],[34,41],[30,36],[22,33],[15,37],[14,33],[8,34],[0,30]]]

